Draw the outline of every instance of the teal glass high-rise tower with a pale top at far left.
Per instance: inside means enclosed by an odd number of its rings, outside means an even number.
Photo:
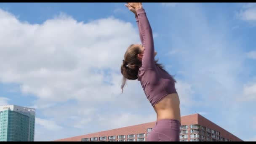
[[[35,109],[0,106],[0,141],[34,141]]]

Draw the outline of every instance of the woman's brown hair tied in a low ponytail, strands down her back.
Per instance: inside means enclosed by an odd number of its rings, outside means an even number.
[[[123,63],[121,64],[121,73],[123,75],[123,82],[121,85],[122,93],[123,87],[125,86],[126,79],[136,80],[138,79],[139,68],[141,67],[141,60],[138,59],[138,54],[141,53],[141,49],[138,46],[131,44],[124,55]],[[157,63],[158,59],[155,61],[157,67],[168,73],[162,64]],[[176,80],[173,79],[176,83]]]

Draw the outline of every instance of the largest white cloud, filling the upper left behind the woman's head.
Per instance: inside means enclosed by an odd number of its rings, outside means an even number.
[[[123,53],[138,41],[132,24],[111,17],[84,24],[63,13],[28,24],[2,10],[0,18],[3,83],[20,83],[23,93],[46,104],[108,101],[120,93],[112,77],[121,79]]]

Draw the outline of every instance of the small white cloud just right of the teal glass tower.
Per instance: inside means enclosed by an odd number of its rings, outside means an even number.
[[[35,124],[43,126],[47,130],[59,131],[62,129],[60,125],[52,120],[46,120],[39,117],[35,118]]]

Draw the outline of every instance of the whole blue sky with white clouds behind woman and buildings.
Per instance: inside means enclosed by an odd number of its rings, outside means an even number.
[[[35,141],[156,120],[120,65],[139,43],[125,3],[0,3],[0,104],[36,108]],[[181,115],[256,141],[256,3],[143,3]]]

